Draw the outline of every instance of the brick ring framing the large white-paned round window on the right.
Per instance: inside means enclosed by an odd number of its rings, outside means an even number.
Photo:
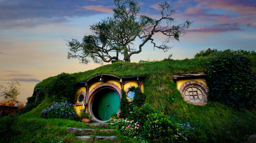
[[[189,86],[198,86],[198,87],[201,87],[204,90],[203,91],[204,92],[204,97],[203,97],[203,100],[200,103],[191,103],[183,95],[184,89],[186,87],[189,87]],[[191,104],[195,104],[195,105],[205,105],[208,101],[207,97],[208,97],[209,89],[203,83],[201,83],[199,81],[195,81],[195,80],[187,81],[187,82],[185,82],[181,85],[179,90],[181,92],[181,96],[183,97],[184,101],[187,102],[187,103],[191,103]]]

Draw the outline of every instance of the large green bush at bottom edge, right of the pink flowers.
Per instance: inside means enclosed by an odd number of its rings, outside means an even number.
[[[187,133],[194,128],[190,124],[180,124],[177,120],[163,113],[154,113],[147,116],[144,133],[149,142],[177,143],[187,140]]]

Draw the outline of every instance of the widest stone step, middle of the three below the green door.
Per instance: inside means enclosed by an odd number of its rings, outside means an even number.
[[[73,133],[75,135],[88,135],[92,133],[99,132],[110,132],[114,129],[107,129],[107,130],[97,130],[97,129],[77,129],[77,128],[67,128],[66,133]]]

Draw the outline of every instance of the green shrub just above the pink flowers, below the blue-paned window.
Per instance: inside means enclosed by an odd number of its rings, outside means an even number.
[[[147,121],[147,115],[157,113],[158,111],[150,104],[143,104],[141,107],[134,107],[130,118],[139,122],[140,125],[145,124]]]

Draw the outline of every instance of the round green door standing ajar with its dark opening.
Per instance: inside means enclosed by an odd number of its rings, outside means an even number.
[[[101,89],[96,93],[93,101],[93,112],[99,120],[109,120],[113,113],[117,113],[120,106],[118,93],[111,88]]]

